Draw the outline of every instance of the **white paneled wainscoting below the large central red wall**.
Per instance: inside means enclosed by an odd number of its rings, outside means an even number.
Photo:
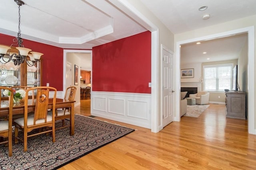
[[[151,129],[151,94],[91,92],[91,114]]]

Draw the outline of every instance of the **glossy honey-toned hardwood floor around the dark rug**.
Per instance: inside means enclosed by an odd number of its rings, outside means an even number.
[[[88,103],[82,100],[75,113],[90,115]],[[246,120],[226,118],[225,105],[210,104],[198,118],[181,117],[159,133],[106,121],[137,130],[60,170],[256,169],[256,135],[248,134]]]

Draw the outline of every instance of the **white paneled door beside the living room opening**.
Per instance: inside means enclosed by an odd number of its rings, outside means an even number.
[[[174,119],[173,115],[173,53],[162,47],[162,125]]]

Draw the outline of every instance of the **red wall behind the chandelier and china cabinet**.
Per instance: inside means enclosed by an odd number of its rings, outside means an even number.
[[[0,33],[0,44],[11,45],[15,37]],[[42,60],[42,86],[50,86],[58,91],[63,90],[63,49],[35,41],[23,39],[24,47],[32,51],[43,53]]]

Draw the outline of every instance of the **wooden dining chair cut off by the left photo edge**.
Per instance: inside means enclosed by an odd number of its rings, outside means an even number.
[[[7,138],[6,141],[1,141],[0,144],[8,143],[8,150],[9,150],[9,156],[12,156],[12,106],[13,106],[13,90],[8,87],[0,86],[0,94],[2,93],[2,90],[9,90],[10,97],[9,97],[9,106],[6,106],[6,104],[2,104],[1,98],[0,98],[0,107],[9,107],[9,113],[7,120],[0,121],[0,137]],[[2,96],[2,94],[1,94]]]

